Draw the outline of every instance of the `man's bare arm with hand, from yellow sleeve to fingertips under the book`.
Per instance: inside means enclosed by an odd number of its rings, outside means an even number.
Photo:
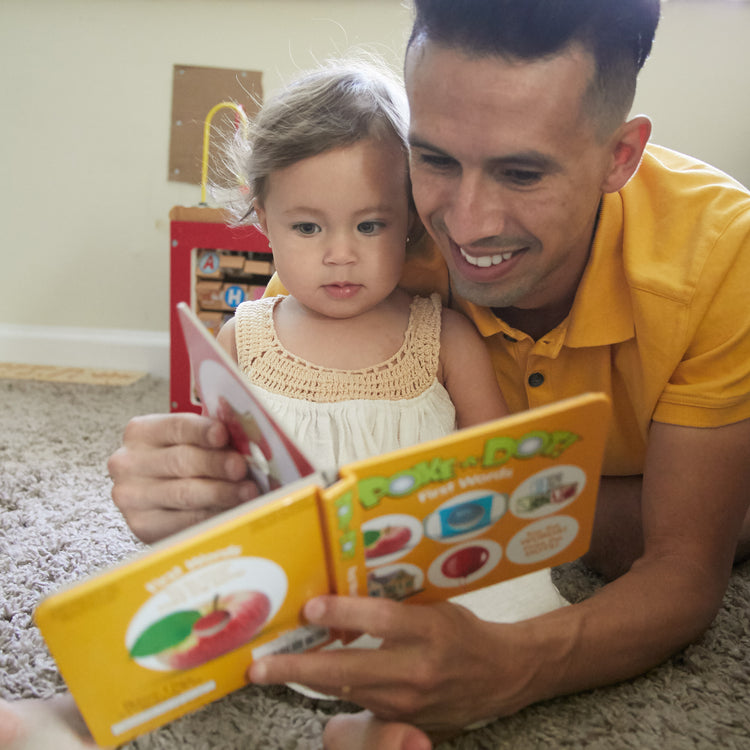
[[[451,604],[323,597],[307,607],[311,621],[381,636],[380,651],[268,657],[251,678],[302,682],[384,719],[445,729],[641,674],[697,638],[718,610],[750,498],[748,446],[750,421],[654,424],[643,554],[580,604],[494,624]]]

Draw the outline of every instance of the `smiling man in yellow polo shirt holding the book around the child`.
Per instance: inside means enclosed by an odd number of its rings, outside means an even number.
[[[587,562],[611,583],[520,625],[313,600],[311,621],[367,630],[381,650],[269,657],[250,677],[385,720],[333,721],[331,747],[429,747],[400,722],[453,731],[637,675],[710,625],[750,542],[750,195],[647,147],[648,119],[627,119],[658,0],[415,5],[412,181],[439,255],[417,254],[404,284],[474,320],[511,409],[610,394]],[[198,417],[129,426],[110,470],[139,536],[252,495],[225,444]]]

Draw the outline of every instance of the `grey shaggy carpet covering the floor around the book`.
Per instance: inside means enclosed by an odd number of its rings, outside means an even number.
[[[0,697],[64,690],[34,607],[140,549],[110,500],[106,459],[129,417],[167,409],[167,383],[151,377],[124,387],[0,379]],[[578,563],[553,579],[573,602],[600,585]],[[125,747],[313,750],[326,718],[344,707],[251,686]],[[440,748],[750,748],[750,564],[735,569],[705,636],[660,667],[532,706]]]

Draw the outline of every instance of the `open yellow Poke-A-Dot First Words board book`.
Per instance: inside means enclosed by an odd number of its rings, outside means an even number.
[[[196,391],[265,494],[44,599],[35,613],[94,737],[122,744],[329,644],[324,593],[434,602],[582,555],[609,402],[586,394],[330,471],[313,467],[192,311]]]

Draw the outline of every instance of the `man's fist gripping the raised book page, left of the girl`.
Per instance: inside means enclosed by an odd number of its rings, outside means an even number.
[[[153,542],[257,497],[224,426],[197,414],[132,419],[109,459],[112,498],[133,533]]]

